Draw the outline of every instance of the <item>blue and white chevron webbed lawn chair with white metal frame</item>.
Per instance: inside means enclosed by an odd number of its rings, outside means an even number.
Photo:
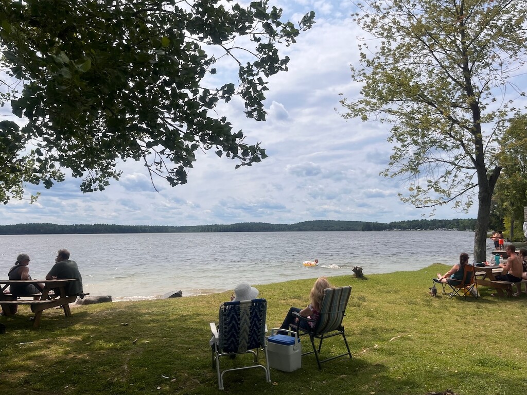
[[[232,370],[262,368],[267,382],[271,382],[267,346],[265,343],[267,301],[253,299],[240,302],[225,302],[220,305],[218,328],[210,323],[212,332],[212,368],[218,372],[218,387],[223,389],[223,374]],[[256,350],[256,351],[255,351]],[[258,363],[258,351],[265,353],[265,365]],[[221,370],[220,357],[237,354],[252,354],[253,364],[238,368]]]

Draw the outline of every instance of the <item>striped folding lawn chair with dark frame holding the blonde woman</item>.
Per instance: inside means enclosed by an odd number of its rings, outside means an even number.
[[[314,328],[304,329],[300,328],[300,325],[291,325],[291,329],[297,332],[299,336],[308,334],[311,339],[311,345],[313,345],[313,351],[302,353],[302,356],[307,354],[315,353],[317,359],[318,369],[322,369],[320,364],[322,362],[330,361],[332,359],[340,358],[349,355],[352,358],[352,353],[349,351],[348,341],[344,334],[344,326],[342,320],[346,313],[346,306],[348,304],[349,294],[352,292],[352,287],[347,285],[346,287],[339,288],[327,288],[324,290],[324,299],[322,300],[322,306],[320,308],[320,317],[315,324]],[[299,320],[311,321],[309,318],[302,317],[300,314],[294,312]],[[300,321],[298,321],[300,322]],[[322,348],[322,341],[333,336],[342,335],[344,344],[348,352],[340,354],[338,356],[330,357],[324,360],[319,359],[320,349]],[[315,339],[319,339],[318,348],[315,346]]]

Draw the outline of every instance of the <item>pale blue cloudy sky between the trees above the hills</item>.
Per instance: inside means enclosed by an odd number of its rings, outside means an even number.
[[[296,44],[283,48],[289,71],[273,76],[265,106],[266,122],[249,120],[243,104],[233,100],[217,112],[227,116],[246,142],[261,142],[268,158],[235,170],[237,162],[219,158],[214,150],[200,154],[188,183],[170,187],[154,180],[142,164],[126,162],[119,181],[102,192],[82,193],[80,180],[67,178],[40,191],[36,203],[12,200],[0,206],[0,224],[206,225],[239,222],[291,224],[309,220],[392,222],[430,218],[430,209],[402,203],[401,180],[379,172],[388,166],[389,125],[345,120],[339,104],[343,94],[360,97],[350,65],[358,64],[357,37],[350,1],[274,1],[284,17],[299,21],[311,10],[316,23]],[[5,113],[3,111],[2,113]],[[0,115],[0,120],[5,118]],[[11,118],[12,119],[12,118]],[[433,218],[476,218],[438,208]]]

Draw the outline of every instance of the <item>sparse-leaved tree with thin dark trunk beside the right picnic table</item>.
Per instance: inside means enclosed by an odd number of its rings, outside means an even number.
[[[345,118],[391,124],[385,176],[407,182],[416,208],[477,200],[474,259],[486,260],[491,199],[502,167],[497,142],[523,102],[527,50],[522,0],[366,0],[355,22],[362,98],[341,98]],[[516,103],[518,101],[518,103]]]

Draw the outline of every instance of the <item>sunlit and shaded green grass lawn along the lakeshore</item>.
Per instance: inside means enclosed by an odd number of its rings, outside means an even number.
[[[527,298],[463,301],[431,298],[432,265],[415,272],[330,279],[352,285],[344,321],[353,359],[318,370],[313,355],[294,372],[228,372],[226,393],[392,395],[442,392],[459,395],[527,392]],[[305,307],[314,280],[258,285],[268,301],[267,325],[278,327],[291,305]],[[155,301],[46,310],[40,328],[19,308],[0,317],[0,393],[216,394],[209,322],[231,292]],[[302,349],[310,347],[302,338]],[[341,338],[325,341],[322,357],[341,353]],[[242,358],[222,363],[239,364]]]

